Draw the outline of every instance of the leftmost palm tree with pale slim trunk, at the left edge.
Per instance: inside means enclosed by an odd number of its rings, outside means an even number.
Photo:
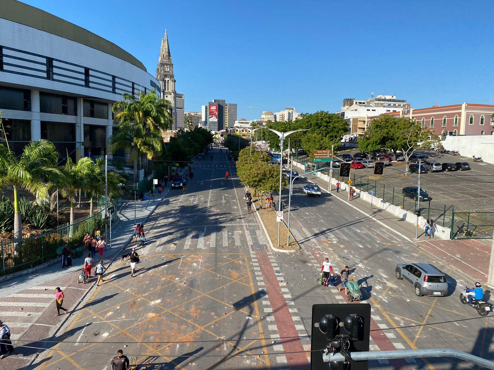
[[[6,146],[0,144],[0,188],[12,186],[14,191],[14,239],[22,239],[19,189],[46,197],[48,182],[56,182],[63,176],[57,160],[55,146],[44,139],[30,142],[19,157],[10,150],[8,141]]]

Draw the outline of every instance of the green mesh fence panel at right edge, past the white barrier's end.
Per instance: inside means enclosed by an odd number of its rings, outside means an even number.
[[[492,239],[494,212],[454,212],[451,239]]]

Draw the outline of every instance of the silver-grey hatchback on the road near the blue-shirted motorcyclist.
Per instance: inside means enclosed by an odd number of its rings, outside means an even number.
[[[446,296],[448,282],[440,269],[429,263],[398,263],[395,275],[413,285],[416,296]]]

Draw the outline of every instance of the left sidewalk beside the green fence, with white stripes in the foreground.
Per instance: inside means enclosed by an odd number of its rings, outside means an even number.
[[[165,191],[164,196],[169,191]],[[161,200],[151,200],[123,204],[118,212],[119,222],[112,225],[112,240],[107,244],[103,254],[105,266],[129,241],[134,225],[145,222]],[[135,212],[135,221],[134,221]],[[67,321],[78,305],[94,286],[96,278],[86,284],[78,283],[78,275],[83,267],[83,258],[73,259],[72,267],[61,268],[60,263],[45,267],[35,273],[3,281],[0,288],[0,319],[10,328],[11,339],[19,340],[17,344],[43,347],[37,340],[53,338],[58,329]],[[99,255],[94,256],[98,261]],[[55,288],[64,291],[63,306],[69,310],[68,315],[55,316]],[[17,347],[14,354],[0,360],[0,370],[26,369],[41,352],[37,349]]]

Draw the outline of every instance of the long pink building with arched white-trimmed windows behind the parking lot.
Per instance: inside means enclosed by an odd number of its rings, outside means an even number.
[[[457,135],[494,135],[494,122],[491,115],[494,105],[488,104],[456,104],[452,106],[431,107],[388,112],[397,117],[408,117],[441,135],[444,130]],[[377,116],[369,117],[367,124]]]

